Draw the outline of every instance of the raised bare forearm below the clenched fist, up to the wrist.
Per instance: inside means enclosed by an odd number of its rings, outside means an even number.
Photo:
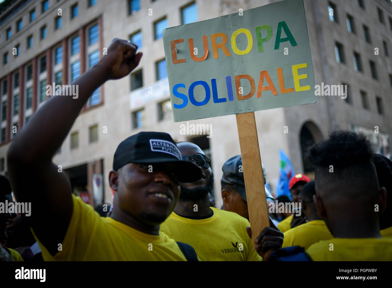
[[[89,96],[106,80],[98,64],[71,83],[77,87],[76,96],[62,93],[49,98],[13,140],[9,155],[27,162],[51,161]]]

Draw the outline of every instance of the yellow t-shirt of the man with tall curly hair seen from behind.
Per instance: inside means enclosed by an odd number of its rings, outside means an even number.
[[[392,239],[332,238],[313,244],[306,252],[313,261],[391,261]]]

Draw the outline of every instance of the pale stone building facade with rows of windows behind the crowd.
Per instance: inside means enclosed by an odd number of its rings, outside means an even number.
[[[162,29],[272,2],[276,1],[17,0],[7,4],[0,14],[0,173],[7,174],[5,158],[13,137],[51,97],[46,85],[71,83],[99,61],[113,38],[129,39],[143,52],[139,66],[93,93],[54,163],[69,175],[75,194],[93,205],[111,203],[107,179],[117,145],[140,131],[168,132],[176,141],[198,144],[211,156],[219,208],[221,167],[240,154],[236,118],[189,121],[211,127],[207,136],[181,132],[180,125],[187,123],[173,121]],[[296,172],[311,176],[303,152],[337,125],[366,133],[375,151],[389,158],[391,154],[391,2],[304,0],[304,4],[316,84],[343,85],[347,98],[320,95],[314,104],[255,112],[261,159],[272,192],[279,178],[279,149],[289,156]],[[58,115],[56,121],[61,119]]]

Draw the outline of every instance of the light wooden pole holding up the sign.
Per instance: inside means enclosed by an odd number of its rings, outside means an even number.
[[[254,244],[254,241],[260,235],[261,230],[269,227],[259,140],[254,112],[236,114],[236,119],[238,136],[240,138],[249,222],[252,229],[252,243],[255,250],[256,244]]]

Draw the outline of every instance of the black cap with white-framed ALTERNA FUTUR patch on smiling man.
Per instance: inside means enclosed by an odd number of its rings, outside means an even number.
[[[114,152],[113,170],[128,163],[172,163],[177,180],[184,183],[196,182],[202,176],[199,167],[182,161],[176,143],[163,132],[139,132],[122,141]]]

